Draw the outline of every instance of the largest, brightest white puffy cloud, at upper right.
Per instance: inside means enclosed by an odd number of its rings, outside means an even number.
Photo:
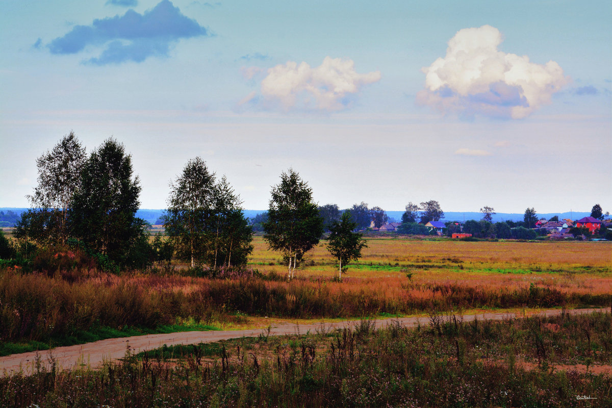
[[[535,64],[528,56],[498,50],[502,35],[491,26],[462,29],[446,56],[424,67],[425,89],[417,103],[462,116],[523,118],[569,83],[554,61]]]

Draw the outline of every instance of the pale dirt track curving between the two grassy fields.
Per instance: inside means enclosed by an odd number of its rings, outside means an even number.
[[[609,309],[574,309],[569,310],[568,313],[582,314],[591,313],[593,311],[608,311]],[[561,314],[562,311],[559,309],[541,311],[535,315],[537,316],[555,316]],[[533,315],[530,315],[533,316]],[[474,318],[478,319],[490,319],[490,320],[502,320],[517,317],[515,313],[482,313],[482,314],[470,314],[464,315],[463,321],[473,321]],[[427,317],[403,317],[400,319],[379,319],[375,321],[376,327],[385,327],[392,321],[399,321],[406,327],[416,326],[418,323],[427,324]],[[280,335],[294,335],[297,333],[305,334],[307,332],[315,333],[316,331],[329,331],[335,328],[354,327],[359,324],[359,321],[342,321],[334,323],[317,323],[317,324],[292,324],[287,322],[286,324],[280,324],[272,327],[270,331],[271,336]],[[53,350],[41,351],[40,359],[41,363],[47,367],[50,366],[51,357],[54,358],[58,367],[64,369],[75,368],[80,365],[89,365],[92,367],[98,367],[102,365],[104,361],[117,360],[125,355],[125,351],[129,344],[130,349],[133,352],[146,351],[149,349],[155,349],[161,347],[163,344],[168,346],[174,344],[197,344],[197,343],[212,343],[214,341],[234,339],[241,337],[253,337],[258,336],[262,333],[266,333],[267,330],[255,329],[255,330],[228,330],[228,331],[215,331],[215,332],[182,332],[182,333],[170,333],[161,335],[144,335],[144,336],[133,336],[124,337],[117,339],[106,339],[95,341],[94,343],[80,344],[78,346],[65,346],[56,347]],[[267,334],[267,333],[266,333]],[[34,361],[36,358],[36,352],[12,354],[6,357],[0,357],[0,376],[6,375],[23,369],[24,373],[31,373],[34,368]]]

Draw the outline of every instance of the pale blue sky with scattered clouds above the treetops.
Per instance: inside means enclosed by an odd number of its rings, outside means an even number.
[[[610,1],[3,0],[0,206],[71,130],[132,155],[141,208],[200,156],[246,209],[612,212]]]

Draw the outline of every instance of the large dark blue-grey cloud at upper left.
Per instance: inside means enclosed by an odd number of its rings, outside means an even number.
[[[143,14],[130,9],[122,16],[94,20],[91,26],[75,26],[47,46],[53,54],[76,54],[88,46],[103,46],[100,56],[88,62],[105,65],[165,57],[179,39],[205,35],[209,35],[206,28],[162,0]]]

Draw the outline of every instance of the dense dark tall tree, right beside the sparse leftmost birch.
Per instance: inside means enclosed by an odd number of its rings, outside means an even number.
[[[136,218],[140,180],[132,177],[132,156],[113,138],[94,150],[83,165],[72,199],[72,235],[89,250],[120,265],[143,266],[150,259],[146,223]]]

